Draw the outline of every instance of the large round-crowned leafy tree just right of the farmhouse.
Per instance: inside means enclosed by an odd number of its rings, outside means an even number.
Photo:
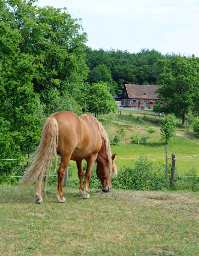
[[[159,76],[162,88],[159,98],[166,102],[163,108],[182,118],[185,114],[197,112],[199,98],[199,62],[196,58],[176,56],[173,60],[160,62],[162,73]]]

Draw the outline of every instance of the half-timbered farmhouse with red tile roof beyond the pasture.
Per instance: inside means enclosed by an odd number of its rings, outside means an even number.
[[[152,108],[158,99],[156,90],[160,85],[125,84],[121,95],[121,106],[128,108]]]

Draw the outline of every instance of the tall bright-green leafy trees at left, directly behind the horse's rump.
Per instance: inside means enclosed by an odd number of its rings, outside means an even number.
[[[86,108],[87,35],[66,9],[35,2],[0,1],[0,158],[33,151],[46,116]]]

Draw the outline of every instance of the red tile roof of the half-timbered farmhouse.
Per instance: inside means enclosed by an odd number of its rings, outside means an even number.
[[[155,92],[157,89],[161,88],[161,85],[134,85],[125,84],[127,90],[128,98],[138,98],[138,99],[158,99],[158,94]],[[146,95],[142,95],[145,93]]]

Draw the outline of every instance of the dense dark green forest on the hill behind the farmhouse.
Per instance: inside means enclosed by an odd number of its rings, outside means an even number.
[[[151,51],[142,49],[139,53],[129,53],[128,51],[120,50],[104,51],[103,49],[92,50],[87,48],[86,53],[86,63],[91,69],[88,81],[92,83],[98,82],[97,74],[99,73],[99,68],[101,65],[105,65],[108,73],[111,74],[111,78],[101,80],[108,82],[111,92],[113,93],[114,89],[118,95],[121,94],[124,83],[157,84],[159,75],[158,61],[173,58],[173,55],[163,56],[154,49]],[[91,78],[92,80],[90,80]]]

